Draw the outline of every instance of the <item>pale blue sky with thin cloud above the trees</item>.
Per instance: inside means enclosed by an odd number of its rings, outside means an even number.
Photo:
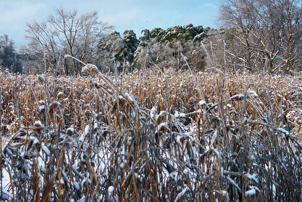
[[[217,27],[215,16],[218,3],[218,0],[0,0],[0,36],[7,34],[16,46],[24,44],[26,23],[42,21],[52,13],[53,6],[60,4],[67,9],[78,8],[79,13],[97,11],[99,19],[114,25],[121,35],[124,30],[132,29],[137,38],[143,29],[156,27],[166,29],[190,23],[194,26]]]

